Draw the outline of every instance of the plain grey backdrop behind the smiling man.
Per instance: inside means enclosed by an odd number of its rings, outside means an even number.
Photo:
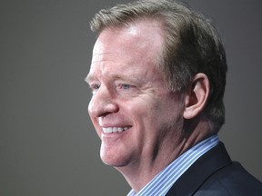
[[[121,2],[121,1],[118,1]],[[122,1],[123,2],[123,1]],[[229,66],[228,152],[262,180],[260,0],[188,0],[210,15]],[[126,181],[99,158],[84,78],[91,17],[116,0],[1,0],[0,195],[125,195]],[[94,193],[96,192],[96,194]]]

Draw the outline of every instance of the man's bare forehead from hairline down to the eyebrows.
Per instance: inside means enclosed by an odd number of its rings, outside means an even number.
[[[108,27],[96,40],[87,78],[97,74],[145,74],[146,77],[156,73],[162,47],[162,28],[156,21],[143,20],[128,26]]]

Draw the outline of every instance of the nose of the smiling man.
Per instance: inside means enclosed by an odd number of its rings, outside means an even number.
[[[105,117],[109,113],[117,113],[118,110],[116,99],[106,86],[99,88],[88,105],[88,113],[91,117]]]

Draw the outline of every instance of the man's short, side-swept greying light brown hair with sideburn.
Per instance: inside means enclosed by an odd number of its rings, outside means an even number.
[[[142,18],[156,19],[164,25],[165,45],[158,65],[171,91],[186,90],[196,73],[207,75],[210,93],[203,114],[218,132],[225,122],[227,60],[216,27],[188,5],[171,0],[138,0],[103,9],[90,27],[100,34],[106,27],[128,25]]]

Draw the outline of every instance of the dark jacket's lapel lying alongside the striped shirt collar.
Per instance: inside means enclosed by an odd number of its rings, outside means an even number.
[[[231,163],[224,144],[219,142],[193,163],[174,183],[166,196],[193,195],[210,175]]]

